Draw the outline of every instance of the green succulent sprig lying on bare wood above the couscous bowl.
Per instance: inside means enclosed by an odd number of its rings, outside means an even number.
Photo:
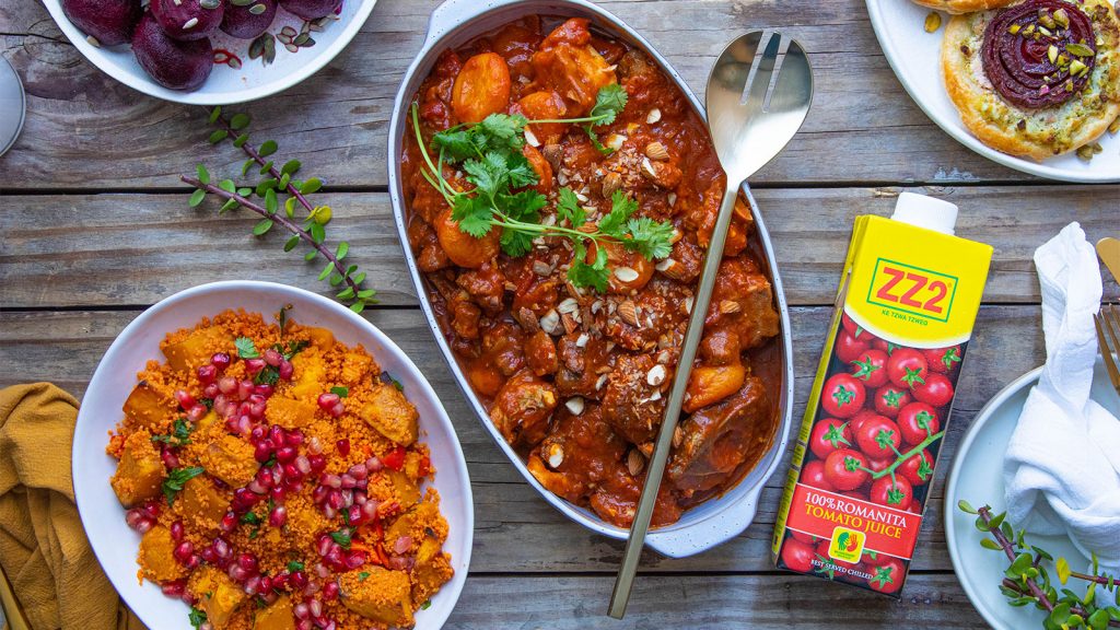
[[[278,167],[270,159],[279,149],[274,140],[264,141],[259,148],[250,145],[249,133],[245,131],[250,123],[249,114],[237,113],[227,119],[222,114],[221,108],[214,108],[209,114],[209,123],[217,128],[209,135],[212,145],[228,140],[249,156],[242,165],[241,176],[248,177],[249,172],[256,168],[263,178],[251,186],[239,185],[231,178],[214,183],[209,170],[199,164],[196,177],[179,177],[195,187],[190,195],[190,206],[198,206],[206,195],[212,194],[224,200],[218,213],[239,207],[255,212],[261,220],[253,225],[253,235],[263,237],[279,225],[291,234],[284,242],[284,251],[291,251],[302,242],[308,248],[304,260],[311,262],[319,257],[325,259],[327,263],[319,274],[319,280],[329,282],[334,288],[342,287],[335,293],[335,298],[349,306],[351,311],[362,313],[366,306],[375,304],[376,291],[363,287],[366,274],[360,271],[357,265],[344,262],[349,252],[349,243],[339,241],[333,248],[326,244],[326,225],[330,222],[333,212],[330,206],[315,205],[308,198],[323,187],[323,180],[318,177],[296,179],[295,175],[302,167],[299,160],[288,160]],[[283,195],[286,197],[281,201]],[[297,217],[297,209],[304,214],[302,217]]]

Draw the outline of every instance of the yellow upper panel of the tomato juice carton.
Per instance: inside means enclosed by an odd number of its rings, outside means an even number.
[[[915,348],[968,341],[991,247],[880,216],[856,220],[844,312]]]

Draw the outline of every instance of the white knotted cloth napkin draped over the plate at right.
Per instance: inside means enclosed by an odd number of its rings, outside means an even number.
[[[1004,460],[1008,520],[1068,534],[1120,573],[1120,420],[1089,398],[1101,271],[1076,222],[1035,250],[1046,364]],[[1074,568],[1077,571],[1077,568]],[[1099,591],[1100,592],[1100,591]]]

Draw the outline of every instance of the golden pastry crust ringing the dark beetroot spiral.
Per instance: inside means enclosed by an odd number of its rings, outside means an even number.
[[[980,48],[995,11],[950,19],[941,46],[945,91],[977,139],[1005,154],[1043,160],[1092,142],[1120,115],[1120,20],[1105,0],[1085,0],[1082,8],[1103,41],[1096,65],[1081,93],[1040,110],[1006,101],[984,76]]]

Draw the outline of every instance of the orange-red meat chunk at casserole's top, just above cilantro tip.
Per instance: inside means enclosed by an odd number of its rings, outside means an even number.
[[[538,83],[569,103],[568,115],[586,115],[605,85],[616,83],[610,64],[590,46],[588,20],[571,18],[549,34],[533,55]]]

